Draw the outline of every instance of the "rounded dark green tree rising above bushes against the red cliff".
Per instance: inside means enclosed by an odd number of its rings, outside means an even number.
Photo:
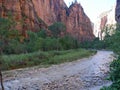
[[[62,22],[56,22],[48,27],[51,30],[53,37],[59,37],[61,33],[65,33],[66,26]]]

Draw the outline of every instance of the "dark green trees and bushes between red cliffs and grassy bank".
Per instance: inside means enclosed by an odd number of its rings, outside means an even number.
[[[2,25],[0,27],[0,50],[4,54],[79,48],[78,41],[70,35],[59,37],[66,30],[65,25],[61,22],[49,26],[53,37],[48,37],[46,30],[41,29],[38,32],[27,31],[27,38],[22,37],[18,30],[10,28],[13,27],[11,19],[1,18],[0,24]]]

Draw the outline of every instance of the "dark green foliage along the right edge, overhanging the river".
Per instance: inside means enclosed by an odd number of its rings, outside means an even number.
[[[120,27],[117,25],[112,36],[105,38],[105,43],[110,50],[113,50],[118,58],[110,65],[110,80],[113,82],[111,86],[104,87],[101,90],[120,90]]]

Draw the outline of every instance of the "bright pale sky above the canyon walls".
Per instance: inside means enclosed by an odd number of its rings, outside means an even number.
[[[69,6],[74,0],[64,0]],[[104,11],[110,10],[116,4],[116,0],[77,0],[81,3],[85,13],[92,22]]]

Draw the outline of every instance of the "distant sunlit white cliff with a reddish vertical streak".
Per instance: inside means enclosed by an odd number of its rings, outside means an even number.
[[[113,6],[109,11],[103,12],[96,20],[94,27],[94,35],[100,39],[104,39],[105,33],[102,30],[105,27],[114,26],[115,21],[115,6]]]

